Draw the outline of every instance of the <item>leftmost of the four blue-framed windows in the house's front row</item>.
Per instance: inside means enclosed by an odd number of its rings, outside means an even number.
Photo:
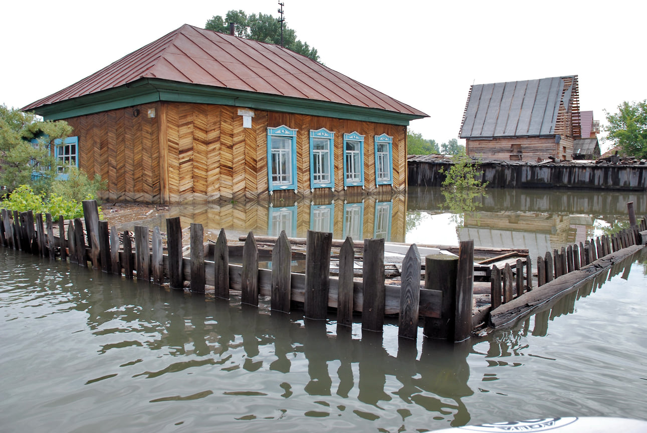
[[[267,175],[274,190],[296,191],[296,129],[267,128]]]

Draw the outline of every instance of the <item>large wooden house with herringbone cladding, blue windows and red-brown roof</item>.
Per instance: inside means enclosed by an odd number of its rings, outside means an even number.
[[[401,192],[406,126],[427,117],[288,49],[190,25],[23,110],[71,124],[67,161],[107,181],[104,199],[149,203]]]

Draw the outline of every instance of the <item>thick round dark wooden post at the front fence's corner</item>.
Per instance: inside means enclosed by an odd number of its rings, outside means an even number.
[[[452,339],[455,328],[458,258],[430,254],[424,259],[424,288],[441,293],[439,317],[425,317],[423,334],[431,339]]]

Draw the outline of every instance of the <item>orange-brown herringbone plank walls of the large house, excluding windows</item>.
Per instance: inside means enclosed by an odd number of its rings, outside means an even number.
[[[80,168],[107,181],[103,199],[179,203],[258,198],[268,192],[267,128],[298,129],[298,195],[310,196],[309,131],[334,135],[332,195],[406,190],[406,128],[254,110],[243,128],[238,107],[157,102],[68,118],[79,137]],[[364,135],[364,189],[344,190],[344,133]],[[373,137],[393,137],[393,186],[375,185]],[[316,191],[318,194],[322,194]],[[294,198],[289,192],[283,194]],[[328,194],[328,195],[331,195]]]

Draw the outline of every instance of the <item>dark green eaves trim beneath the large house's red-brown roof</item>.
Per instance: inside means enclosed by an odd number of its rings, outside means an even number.
[[[155,78],[142,78],[114,89],[43,105],[34,112],[43,116],[45,120],[60,120],[157,101],[230,105],[401,126],[408,126],[411,120],[424,117],[337,102],[292,98]]]

